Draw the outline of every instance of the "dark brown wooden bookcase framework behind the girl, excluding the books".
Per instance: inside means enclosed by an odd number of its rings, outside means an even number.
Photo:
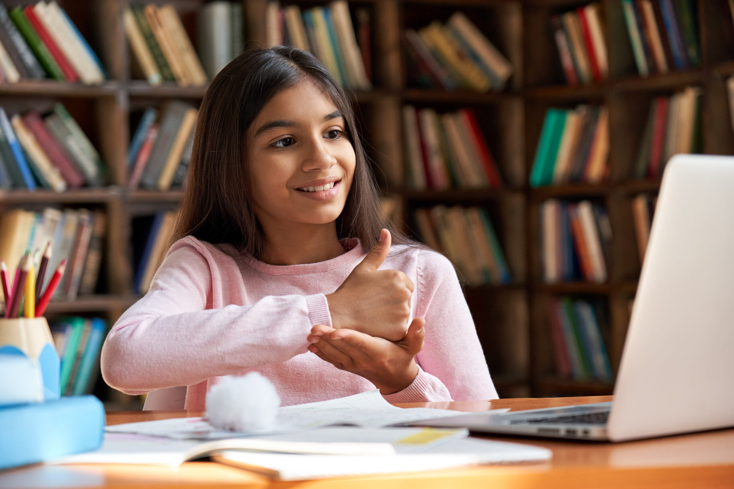
[[[695,85],[703,91],[704,151],[734,154],[725,79],[734,74],[734,27],[727,0],[699,0],[698,23],[702,65],[692,70],[640,78],[636,74],[619,0],[598,0],[605,20],[610,76],[600,84],[564,84],[549,18],[551,12],[589,3],[573,0],[360,0],[354,5],[371,12],[374,90],[357,92],[353,100],[368,154],[383,194],[395,197],[401,226],[415,235],[413,210],[440,203],[486,208],[498,231],[512,272],[512,283],[465,287],[495,384],[502,397],[564,394],[608,394],[611,383],[576,382],[554,375],[548,325],[548,299],[557,295],[601,298],[608,312],[606,341],[616,370],[622,353],[629,306],[636,290],[640,262],[636,250],[631,199],[655,193],[658,181],[631,180],[633,162],[653,97]],[[4,1],[14,6],[18,1]],[[23,1],[23,4],[29,3]],[[156,1],[163,4],[165,1]],[[203,1],[172,0],[189,34],[195,34],[195,12]],[[326,1],[294,0],[309,8]],[[109,166],[110,185],[65,194],[46,191],[0,193],[0,207],[43,208],[46,205],[104,207],[109,216],[103,295],[52,303],[53,314],[103,314],[114,322],[137,296],[132,293],[131,218],[175,207],[180,191],[126,189],[126,154],[130,119],[145,106],[180,98],[199,103],[206,87],[150,87],[131,79],[130,56],[123,31],[126,0],[62,1],[70,17],[101,57],[108,81],[99,87],[21,81],[0,84],[0,105],[10,113],[45,109],[54,101],[68,106]],[[247,46],[264,42],[264,0],[244,0]],[[401,32],[430,21],[446,21],[462,10],[500,48],[515,67],[504,92],[418,89],[406,82]],[[470,107],[479,119],[505,186],[500,190],[413,191],[404,185],[401,106],[432,106],[437,111]],[[566,184],[529,188],[545,109],[578,103],[604,103],[610,111],[611,151],[608,180],[601,185]],[[542,283],[539,206],[545,199],[589,198],[608,209],[614,238],[604,284]]]

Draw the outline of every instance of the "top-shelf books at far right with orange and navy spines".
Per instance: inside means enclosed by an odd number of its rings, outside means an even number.
[[[640,76],[701,64],[694,0],[622,0]]]

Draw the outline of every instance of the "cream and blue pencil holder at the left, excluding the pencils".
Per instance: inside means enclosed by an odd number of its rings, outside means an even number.
[[[59,399],[59,355],[46,317],[0,319],[0,353],[37,361],[43,375],[44,399]]]

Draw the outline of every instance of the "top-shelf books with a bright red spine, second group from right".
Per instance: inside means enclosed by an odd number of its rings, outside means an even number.
[[[599,4],[551,16],[553,37],[569,85],[602,81],[609,75]]]

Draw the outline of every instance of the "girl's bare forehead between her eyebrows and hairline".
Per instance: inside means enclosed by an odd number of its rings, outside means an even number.
[[[277,92],[268,100],[253,122],[254,127],[271,120],[309,120],[322,122],[324,115],[336,111],[337,106],[329,95],[314,84],[310,78],[299,81],[292,87]]]

